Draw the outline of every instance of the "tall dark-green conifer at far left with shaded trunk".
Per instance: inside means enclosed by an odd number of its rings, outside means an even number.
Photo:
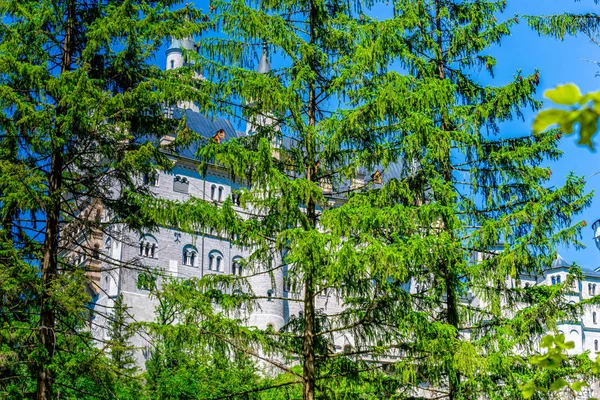
[[[89,345],[84,287],[97,291],[89,277],[111,262],[95,243],[103,213],[144,226],[125,193],[169,168],[149,142],[176,130],[163,106],[190,75],[153,57],[169,35],[201,29],[193,8],[170,11],[179,3],[0,2],[2,351],[15,367],[2,385],[23,396],[58,396],[64,335]]]

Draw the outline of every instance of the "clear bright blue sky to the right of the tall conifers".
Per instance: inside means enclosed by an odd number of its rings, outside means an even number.
[[[207,9],[207,1],[196,0],[199,8]],[[391,8],[391,6],[390,6]],[[390,10],[379,5],[376,13],[387,14]],[[514,15],[551,15],[564,12],[588,13],[600,12],[600,5],[595,5],[593,0],[507,0],[507,9],[498,17],[511,18]],[[385,18],[384,15],[381,16]],[[561,83],[573,82],[583,92],[600,90],[600,67],[586,60],[600,60],[600,47],[590,42],[585,35],[567,37],[564,41],[553,38],[539,37],[520,18],[520,23],[512,30],[512,35],[505,38],[501,46],[494,47],[490,53],[497,58],[495,79],[490,82],[485,70],[474,72],[473,75],[482,81],[493,85],[502,85],[510,82],[517,70],[521,69],[523,75],[540,70],[541,80],[538,97],[542,99],[546,89]],[[164,64],[164,57],[157,59],[159,65]],[[531,130],[534,113],[523,110],[525,120],[514,120],[502,125],[502,134],[518,135]],[[585,269],[600,267],[600,250],[596,249],[593,241],[592,223],[600,219],[600,134],[594,140],[598,151],[593,153],[589,149],[575,144],[575,136],[563,137],[560,143],[564,156],[558,162],[548,163],[552,169],[550,185],[559,185],[564,182],[565,176],[573,171],[576,175],[590,177],[586,179],[587,189],[596,191],[593,203],[576,221],[586,220],[588,226],[583,230],[582,242],[587,246],[583,250],[574,248],[560,248],[559,253],[570,262],[576,262]]]

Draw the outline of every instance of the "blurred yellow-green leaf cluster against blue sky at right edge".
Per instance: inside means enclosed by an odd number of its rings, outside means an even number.
[[[571,109],[551,108],[540,111],[533,122],[533,132],[540,133],[557,124],[562,133],[570,135],[575,131],[574,125],[579,124],[577,143],[594,150],[592,138],[598,130],[600,92],[582,95],[577,86],[567,84],[546,90],[544,96],[557,104],[571,106]]]

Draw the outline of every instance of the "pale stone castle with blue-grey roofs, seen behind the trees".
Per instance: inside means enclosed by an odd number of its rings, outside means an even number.
[[[167,69],[185,65],[184,50],[194,50],[192,40],[171,41],[167,49]],[[261,73],[271,71],[266,48],[263,48],[257,70]],[[180,104],[178,108],[169,112],[174,117],[185,115],[188,127],[206,139],[227,141],[252,134],[254,129],[249,123],[245,132],[237,131],[230,121],[206,117],[200,114],[193,104]],[[256,123],[271,123],[268,118],[262,118]],[[172,140],[173,137],[163,138],[166,142]],[[195,197],[219,204],[233,196],[235,207],[242,211],[235,198],[235,191],[241,188],[241,183],[233,182],[224,168],[210,165],[207,173],[204,176],[200,175],[194,148],[185,149],[169,157],[173,161],[172,170],[140,177],[140,185],[147,187],[157,197],[171,200],[185,201]],[[376,172],[372,179],[380,180],[381,173]],[[114,298],[118,294],[123,296],[129,313],[135,320],[151,321],[154,319],[156,304],[149,298],[149,289],[151,284],[160,285],[164,277],[201,278],[207,274],[245,273],[242,260],[249,256],[250,250],[234,245],[231,240],[217,232],[205,231],[190,235],[177,229],[163,227],[140,236],[122,224],[111,224],[111,216],[104,213],[101,205],[95,206],[93,210],[95,211],[89,212],[90,218],[95,216],[97,220],[107,224],[110,234],[93,236],[94,242],[90,245],[94,249],[93,256],[77,261],[91,266],[89,269],[96,285],[94,307],[99,311],[91,326],[97,337],[107,338],[108,332],[102,315],[110,313]],[[594,223],[593,229],[596,245],[600,249],[600,220]],[[275,254],[270,262],[278,263],[280,258]],[[147,270],[135,267],[137,265],[143,265]],[[559,256],[542,275],[522,276],[520,284],[559,284],[565,281],[569,268],[569,263]],[[153,276],[147,272],[153,269],[160,273]],[[284,267],[276,269],[272,275],[257,274],[248,278],[254,293],[261,297],[258,307],[249,316],[248,324],[260,329],[279,329],[291,316],[302,312],[300,303],[286,300],[295,294],[286,287],[285,274]],[[414,292],[418,288],[411,284],[409,290]],[[600,295],[600,271],[584,271],[584,279],[576,282],[569,301],[575,303],[595,295]],[[337,301],[327,297],[320,297],[317,302],[317,309],[326,312],[336,312],[342,307]],[[590,351],[594,354],[600,351],[600,307],[587,308],[580,321],[562,323],[559,330],[565,334],[567,340],[575,343],[573,353]],[[348,340],[343,336],[335,338],[336,349],[339,351],[351,345]],[[148,345],[146,339],[140,335],[134,338],[133,344],[138,349],[147,348]],[[138,363],[143,365],[148,352],[139,351],[136,357]],[[589,393],[594,394],[597,393]]]

